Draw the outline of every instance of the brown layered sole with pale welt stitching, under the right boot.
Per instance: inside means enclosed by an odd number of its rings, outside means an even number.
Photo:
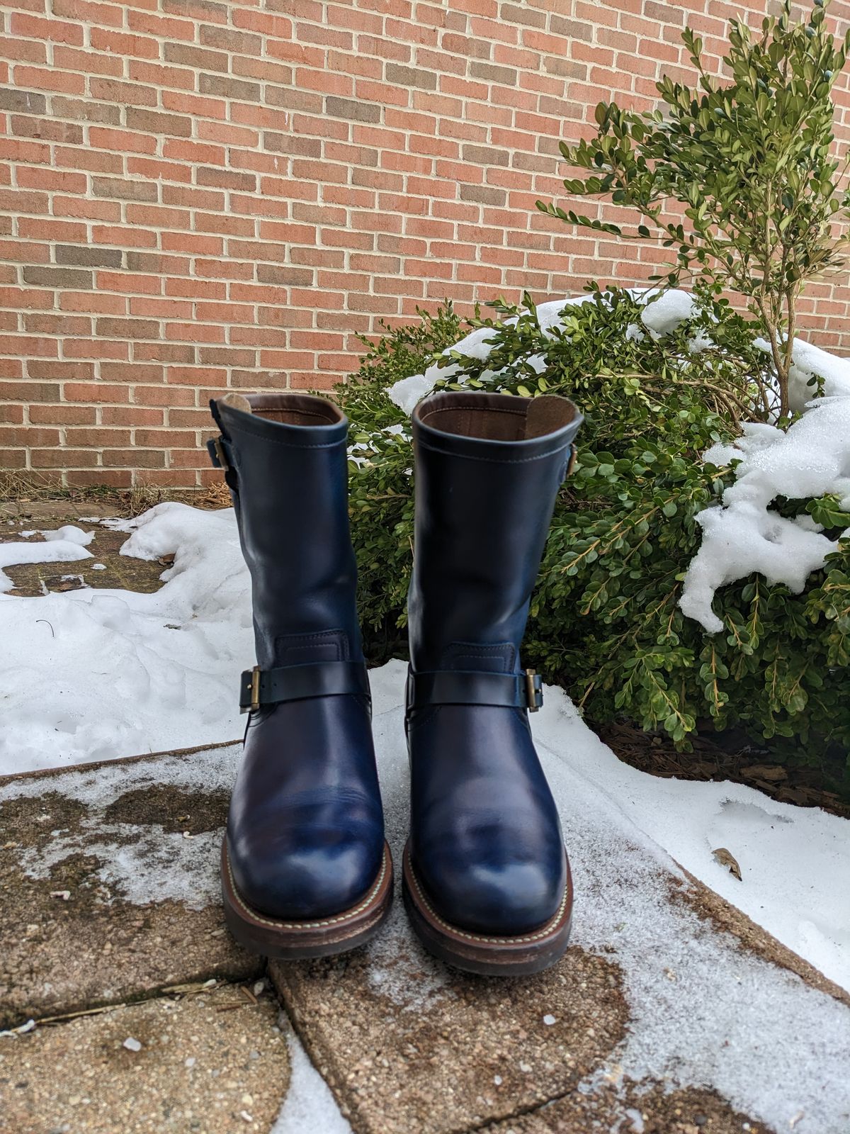
[[[483,976],[539,973],[559,960],[570,939],[572,877],[567,863],[567,889],[558,913],[539,929],[517,937],[470,933],[444,921],[430,904],[405,847],[401,892],[410,924],[422,943],[440,960]]]

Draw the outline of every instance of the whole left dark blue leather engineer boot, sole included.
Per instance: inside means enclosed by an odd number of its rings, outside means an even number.
[[[257,666],[243,674],[245,753],[222,846],[228,925],[269,957],[367,941],[392,899],[372,744],[348,423],[305,393],[210,403],[248,565]]]

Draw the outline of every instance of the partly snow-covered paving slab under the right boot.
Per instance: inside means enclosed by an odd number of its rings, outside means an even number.
[[[400,709],[376,718],[397,864],[402,735]],[[553,970],[459,973],[419,947],[398,899],[365,949],[270,965],[354,1129],[847,1134],[848,998],[539,751],[578,892]]]

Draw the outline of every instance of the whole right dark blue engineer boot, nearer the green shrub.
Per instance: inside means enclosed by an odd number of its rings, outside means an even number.
[[[528,727],[520,642],[581,415],[560,397],[435,393],[414,412],[408,595],[410,839],[403,896],[436,956],[538,972],[567,948],[572,886]]]

